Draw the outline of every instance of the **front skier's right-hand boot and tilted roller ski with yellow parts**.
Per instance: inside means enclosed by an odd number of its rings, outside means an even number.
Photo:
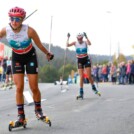
[[[51,127],[51,121],[50,121],[50,119],[47,116],[43,115],[43,112],[42,112],[42,109],[41,108],[35,110],[35,115],[36,115],[36,118],[38,120],[41,120],[42,122],[47,123],[49,125],[49,127]]]

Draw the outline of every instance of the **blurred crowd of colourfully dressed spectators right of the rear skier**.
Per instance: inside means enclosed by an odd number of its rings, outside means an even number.
[[[96,82],[112,82],[113,84],[134,84],[134,61],[121,62],[118,65],[103,64],[92,67],[92,75]]]

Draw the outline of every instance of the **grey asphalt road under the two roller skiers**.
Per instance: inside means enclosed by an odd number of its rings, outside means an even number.
[[[83,100],[76,100],[78,85],[63,86],[62,92],[60,85],[39,87],[52,127],[36,119],[34,105],[25,105],[27,128],[9,132],[9,121],[17,119],[15,88],[0,89],[0,134],[134,134],[134,85],[100,84],[101,97],[84,85]],[[27,84],[25,91],[29,91]]]

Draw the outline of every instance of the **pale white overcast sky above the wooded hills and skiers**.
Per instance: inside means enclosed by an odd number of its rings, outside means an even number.
[[[8,11],[15,6],[24,8],[27,16],[37,9],[24,24],[33,27],[44,43],[66,48],[68,32],[70,42],[86,32],[91,54],[134,54],[133,0],[4,0],[0,29],[9,23]]]

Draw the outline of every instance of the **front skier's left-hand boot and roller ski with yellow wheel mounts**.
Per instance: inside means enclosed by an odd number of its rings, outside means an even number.
[[[27,125],[27,120],[25,119],[25,115],[18,115],[18,120],[10,121],[9,123],[9,131],[12,131],[12,128],[17,128],[17,127],[24,127],[26,128]]]

